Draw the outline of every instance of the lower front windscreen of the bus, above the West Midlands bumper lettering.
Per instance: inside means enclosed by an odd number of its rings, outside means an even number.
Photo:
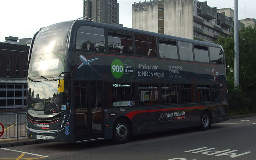
[[[58,81],[28,81],[27,87],[28,114],[43,118],[69,110],[68,93],[58,92]]]

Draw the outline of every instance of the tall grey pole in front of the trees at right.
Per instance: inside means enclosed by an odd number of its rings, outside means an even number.
[[[234,63],[234,74],[235,74],[235,87],[239,86],[239,37],[238,37],[238,0],[235,1],[235,15],[234,15],[234,22],[235,22],[235,63]]]

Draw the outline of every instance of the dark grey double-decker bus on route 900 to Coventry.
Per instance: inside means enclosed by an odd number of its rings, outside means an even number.
[[[122,144],[229,118],[218,44],[78,18],[38,31],[28,65],[28,138]]]

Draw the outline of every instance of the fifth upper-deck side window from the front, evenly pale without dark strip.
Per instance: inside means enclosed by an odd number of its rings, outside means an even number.
[[[188,42],[178,42],[179,44],[179,53],[180,53],[180,60],[190,60],[193,61],[193,51],[192,51],[192,44]]]

